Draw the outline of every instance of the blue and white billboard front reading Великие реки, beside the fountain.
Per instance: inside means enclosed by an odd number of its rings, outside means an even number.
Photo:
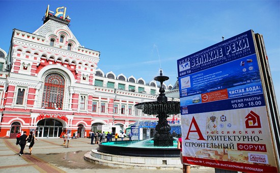
[[[253,31],[177,61],[185,163],[277,172]]]

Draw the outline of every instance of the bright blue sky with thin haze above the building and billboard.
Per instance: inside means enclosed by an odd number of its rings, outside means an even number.
[[[252,29],[264,36],[280,100],[280,1],[1,1],[0,47],[9,50],[12,29],[33,33],[47,5],[67,7],[81,45],[101,52],[98,68],[151,81],[177,80],[176,61]]]

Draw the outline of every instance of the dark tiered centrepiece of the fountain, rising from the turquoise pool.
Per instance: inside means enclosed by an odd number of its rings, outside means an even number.
[[[165,96],[164,88],[162,83],[168,80],[169,77],[162,76],[162,71],[160,70],[160,75],[156,76],[154,80],[160,82],[159,96],[157,101],[154,102],[143,102],[135,105],[135,108],[142,109],[143,113],[146,114],[157,114],[158,124],[156,126],[156,134],[154,137],[154,146],[158,147],[168,147],[173,146],[173,137],[170,133],[170,125],[167,123],[166,118],[169,114],[180,113],[180,102],[167,101]]]

